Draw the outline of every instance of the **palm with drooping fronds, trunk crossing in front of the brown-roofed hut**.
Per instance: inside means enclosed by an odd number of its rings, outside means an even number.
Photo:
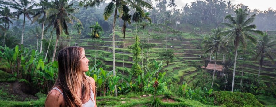
[[[212,30],[212,43],[209,45],[205,45],[205,48],[207,48],[207,50],[205,51],[205,53],[209,53],[211,51],[216,53],[216,59],[215,59],[215,67],[214,67],[214,71],[213,71],[213,80],[212,80],[212,85],[211,88],[213,87],[213,83],[214,83],[214,78],[215,78],[215,71],[216,71],[216,63],[217,63],[217,53],[219,51],[226,51],[226,49],[223,47],[221,39],[222,37],[219,34],[219,32],[221,32],[222,29],[221,28],[217,28],[217,29],[213,29]]]

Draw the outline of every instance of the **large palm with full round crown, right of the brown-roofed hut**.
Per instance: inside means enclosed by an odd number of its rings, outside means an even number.
[[[236,9],[236,17],[232,17],[231,15],[225,16],[225,19],[228,19],[230,23],[221,23],[225,26],[230,27],[230,29],[220,32],[221,34],[226,34],[225,43],[227,44],[231,39],[234,39],[235,46],[235,61],[234,61],[234,71],[233,71],[233,81],[232,81],[232,92],[234,89],[234,80],[235,80],[235,71],[236,71],[236,60],[237,60],[237,51],[239,47],[239,43],[246,48],[246,39],[249,39],[252,43],[256,43],[256,39],[252,37],[248,32],[253,32],[257,34],[263,34],[262,31],[256,30],[256,25],[251,24],[255,19],[255,14],[250,18],[246,19],[248,14],[246,13],[247,9]],[[251,24],[251,25],[249,25]]]

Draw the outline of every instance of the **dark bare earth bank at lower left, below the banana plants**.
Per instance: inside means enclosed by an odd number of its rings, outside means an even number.
[[[13,101],[29,101],[36,100],[38,97],[34,96],[34,94],[38,93],[39,90],[30,87],[24,82],[13,82],[13,83],[0,83],[1,89],[7,93],[8,96],[5,98],[13,100]]]

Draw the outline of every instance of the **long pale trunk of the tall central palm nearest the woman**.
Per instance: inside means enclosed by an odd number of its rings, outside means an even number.
[[[116,76],[115,71],[115,24],[116,24],[116,17],[117,17],[117,9],[115,9],[114,19],[113,19],[113,26],[112,26],[112,56],[113,56],[113,76]],[[115,96],[117,97],[117,86],[115,85]]]

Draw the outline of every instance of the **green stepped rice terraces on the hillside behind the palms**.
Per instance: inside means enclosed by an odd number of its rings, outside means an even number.
[[[116,32],[115,38],[115,56],[116,56],[116,67],[119,71],[119,75],[123,67],[123,50],[125,50],[125,67],[126,70],[131,68],[132,53],[127,49],[127,46],[135,42],[134,34],[131,32],[126,32],[125,38],[125,49],[123,49],[123,35],[121,32]],[[149,33],[151,35],[158,35],[159,39],[154,36],[139,34],[140,42],[144,43],[154,43],[155,47],[149,50],[148,59],[158,59],[156,53],[165,51],[166,48],[166,35],[155,33]],[[270,35],[276,35],[276,31],[269,32]],[[105,65],[112,69],[112,38],[109,37],[101,38],[102,42],[98,43],[98,56]],[[90,59],[95,58],[95,42],[90,39],[82,39],[81,47],[86,49],[86,55]],[[201,39],[199,34],[193,33],[183,33],[181,36],[176,36],[175,34],[168,35],[168,49],[173,50],[175,59],[168,66],[168,76],[173,76],[176,78],[176,82],[182,83],[183,81],[191,82],[193,77],[199,73],[197,72],[200,66],[204,65],[204,59],[200,56],[203,55],[204,50],[200,46]],[[274,48],[276,51],[276,48]],[[146,57],[146,50],[144,50],[144,57]],[[208,58],[207,58],[208,59]],[[218,64],[222,64],[223,56],[218,56]],[[275,60],[276,61],[276,60]],[[213,62],[213,60],[212,60]],[[165,66],[165,65],[164,65]],[[166,67],[163,67],[165,71]],[[240,71],[240,66],[237,67],[237,71]],[[251,63],[244,65],[244,72],[248,74],[258,75],[259,65],[257,61],[251,61]],[[128,72],[127,72],[128,73]],[[240,75],[240,72],[236,72],[236,75]],[[276,80],[276,64],[272,65],[268,59],[265,59],[265,63],[261,70],[261,76],[271,76],[272,79]],[[267,81],[267,80],[265,80]]]

